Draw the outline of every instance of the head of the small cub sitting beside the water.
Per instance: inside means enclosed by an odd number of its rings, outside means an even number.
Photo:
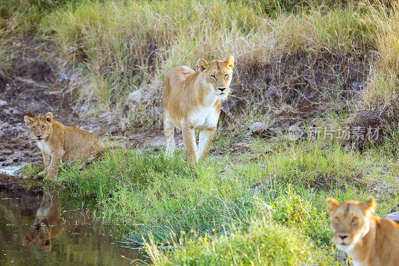
[[[25,124],[28,126],[30,133],[36,140],[42,140],[47,138],[51,131],[51,121],[53,120],[53,114],[47,112],[44,116],[36,116],[31,118],[27,115],[23,117]]]

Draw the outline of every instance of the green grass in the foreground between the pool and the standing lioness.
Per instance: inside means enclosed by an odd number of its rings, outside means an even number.
[[[223,143],[220,136],[214,145]],[[366,199],[374,184],[398,176],[387,151],[345,151],[334,140],[253,139],[250,148],[235,164],[222,156],[194,168],[184,153],[167,159],[162,151],[118,150],[81,172],[61,171],[58,182],[75,197],[94,197],[97,218],[117,225],[123,242],[142,244],[144,237],[156,264],[211,264],[227,254],[226,265],[305,258],[324,265],[336,254],[326,197]],[[273,152],[259,153],[267,149]],[[377,213],[397,200],[377,196]]]

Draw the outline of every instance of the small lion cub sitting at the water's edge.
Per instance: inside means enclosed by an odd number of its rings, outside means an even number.
[[[101,157],[106,149],[104,143],[92,134],[62,125],[50,112],[35,118],[25,115],[23,120],[43,155],[44,171],[38,173],[39,176],[53,178],[58,175],[61,160],[68,163],[88,161]]]

